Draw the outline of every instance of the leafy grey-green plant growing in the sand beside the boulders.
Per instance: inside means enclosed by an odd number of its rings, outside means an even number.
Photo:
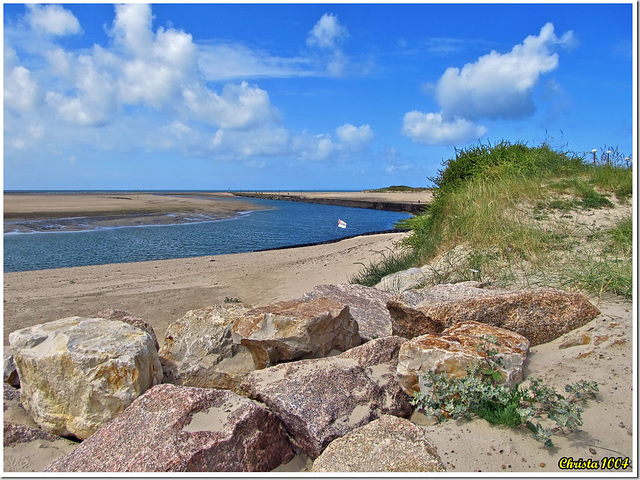
[[[501,385],[498,381],[502,359],[495,349],[497,341],[489,336],[484,340],[479,347],[482,360],[469,365],[466,376],[426,373],[424,390],[413,397],[412,404],[439,423],[458,418],[471,420],[475,416],[495,425],[524,427],[547,447],[553,447],[554,434],[568,433],[582,425],[578,402],[596,395],[596,382],[566,385],[567,397],[534,377],[528,379],[526,387]]]

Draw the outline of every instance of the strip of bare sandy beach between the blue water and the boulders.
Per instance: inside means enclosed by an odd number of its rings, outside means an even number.
[[[266,252],[13,272],[4,275],[4,344],[18,328],[119,308],[144,318],[162,340],[188,310],[237,298],[250,305],[296,298],[348,282],[388,253],[402,233]]]

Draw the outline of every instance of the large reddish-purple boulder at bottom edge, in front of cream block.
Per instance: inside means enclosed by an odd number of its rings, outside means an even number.
[[[228,390],[157,385],[47,472],[265,472],[294,457],[278,419]]]

